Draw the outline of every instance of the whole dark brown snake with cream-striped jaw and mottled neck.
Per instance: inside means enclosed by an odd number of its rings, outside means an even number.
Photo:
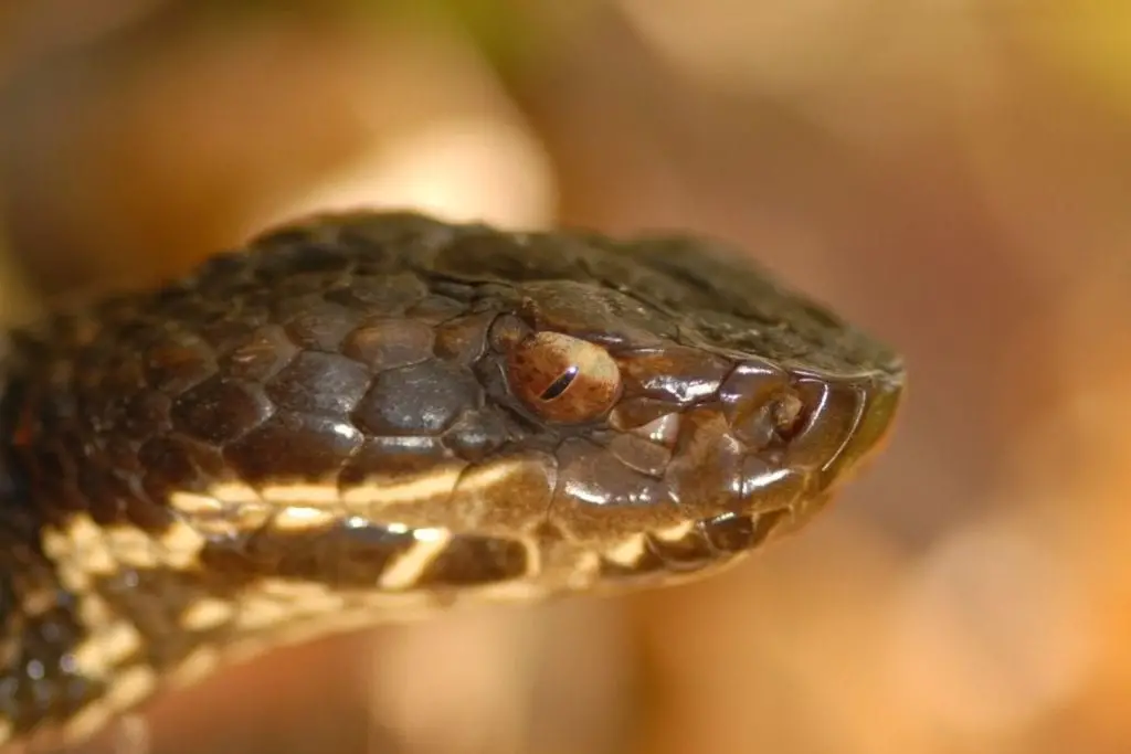
[[[335,631],[682,583],[884,444],[889,346],[736,246],[302,216],[11,328],[0,744]]]

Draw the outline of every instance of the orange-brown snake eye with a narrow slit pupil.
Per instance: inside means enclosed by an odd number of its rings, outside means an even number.
[[[510,389],[551,422],[578,424],[616,402],[621,373],[601,346],[561,332],[536,332],[507,357]]]

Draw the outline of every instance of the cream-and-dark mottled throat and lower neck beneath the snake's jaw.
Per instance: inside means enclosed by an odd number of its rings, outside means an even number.
[[[17,486],[18,488],[18,486]],[[74,744],[163,688],[288,643],[423,617],[423,593],[245,579],[183,563],[152,532],[0,505],[0,745]]]

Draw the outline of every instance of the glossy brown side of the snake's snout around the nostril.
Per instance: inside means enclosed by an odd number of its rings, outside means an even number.
[[[682,413],[667,486],[702,520],[777,511],[800,525],[878,448],[898,398],[872,374],[741,363]]]

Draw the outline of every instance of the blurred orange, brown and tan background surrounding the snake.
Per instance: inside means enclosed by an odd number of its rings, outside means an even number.
[[[726,575],[278,652],[152,752],[1131,752],[1131,5],[0,7],[7,321],[359,205],[729,239],[903,349],[897,432]]]

